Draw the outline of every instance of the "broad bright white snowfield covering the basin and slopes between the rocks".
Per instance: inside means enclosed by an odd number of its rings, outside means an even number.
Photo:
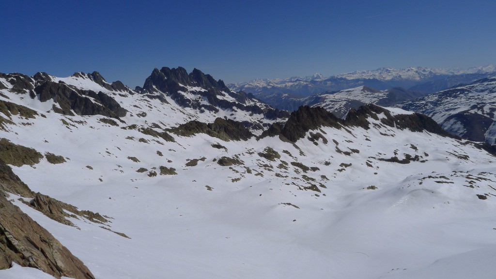
[[[10,101],[31,106],[28,95],[1,91]],[[98,279],[495,277],[496,158],[471,144],[380,126],[373,119],[378,127],[370,130],[311,131],[327,143],[300,139],[301,151],[278,138],[225,142],[199,134],[167,142],[121,127],[167,128],[204,116],[177,108],[172,100],[112,96],[133,114],[120,127],[99,122],[101,116],[66,117],[43,109],[47,118],[12,116],[17,125],[0,131],[17,144],[68,158],[57,165],[42,159],[33,167],[13,167],[33,191],[110,216],[110,228],[131,238],[82,219],[71,219],[80,229],[60,224],[12,195],[15,205]],[[141,111],[147,116],[138,117]],[[208,115],[203,121],[213,119]],[[268,146],[281,158],[268,161],[257,154]],[[405,154],[425,162],[379,160]],[[235,155],[244,165],[214,161]],[[187,159],[203,157],[186,166]],[[319,170],[304,173],[291,164],[286,170],[282,161]],[[174,167],[178,174],[136,172],[156,167],[159,173],[159,166]],[[299,190],[309,183],[326,188]],[[377,189],[367,189],[372,186]],[[486,193],[487,200],[476,196]],[[0,271],[0,278],[23,274],[36,278],[19,267]]]

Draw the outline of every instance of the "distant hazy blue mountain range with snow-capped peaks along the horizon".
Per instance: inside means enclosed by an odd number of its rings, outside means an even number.
[[[495,66],[460,69],[430,69],[411,67],[407,69],[380,68],[349,72],[329,77],[314,74],[307,77],[290,77],[286,79],[257,79],[249,82],[228,84],[233,90],[252,93],[260,100],[279,109],[291,110],[293,96],[310,96],[325,91],[368,86],[378,90],[395,87],[408,88],[412,91],[433,93],[461,83],[471,83],[477,79],[495,74]],[[288,98],[288,96],[290,96]]]

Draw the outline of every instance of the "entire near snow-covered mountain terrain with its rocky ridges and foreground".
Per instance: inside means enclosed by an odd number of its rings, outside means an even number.
[[[494,146],[168,69],[0,76],[0,278],[494,277]]]

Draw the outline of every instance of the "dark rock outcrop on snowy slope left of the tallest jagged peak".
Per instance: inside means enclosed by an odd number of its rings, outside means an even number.
[[[63,83],[45,81],[34,88],[35,96],[41,102],[53,99],[65,115],[103,115],[113,118],[123,117],[126,110],[112,97],[103,92],[96,93],[91,90],[79,90]],[[92,99],[90,99],[91,97]]]

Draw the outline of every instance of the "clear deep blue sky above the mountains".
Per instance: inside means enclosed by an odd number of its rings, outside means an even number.
[[[3,1],[0,72],[226,82],[496,64],[496,1]]]

